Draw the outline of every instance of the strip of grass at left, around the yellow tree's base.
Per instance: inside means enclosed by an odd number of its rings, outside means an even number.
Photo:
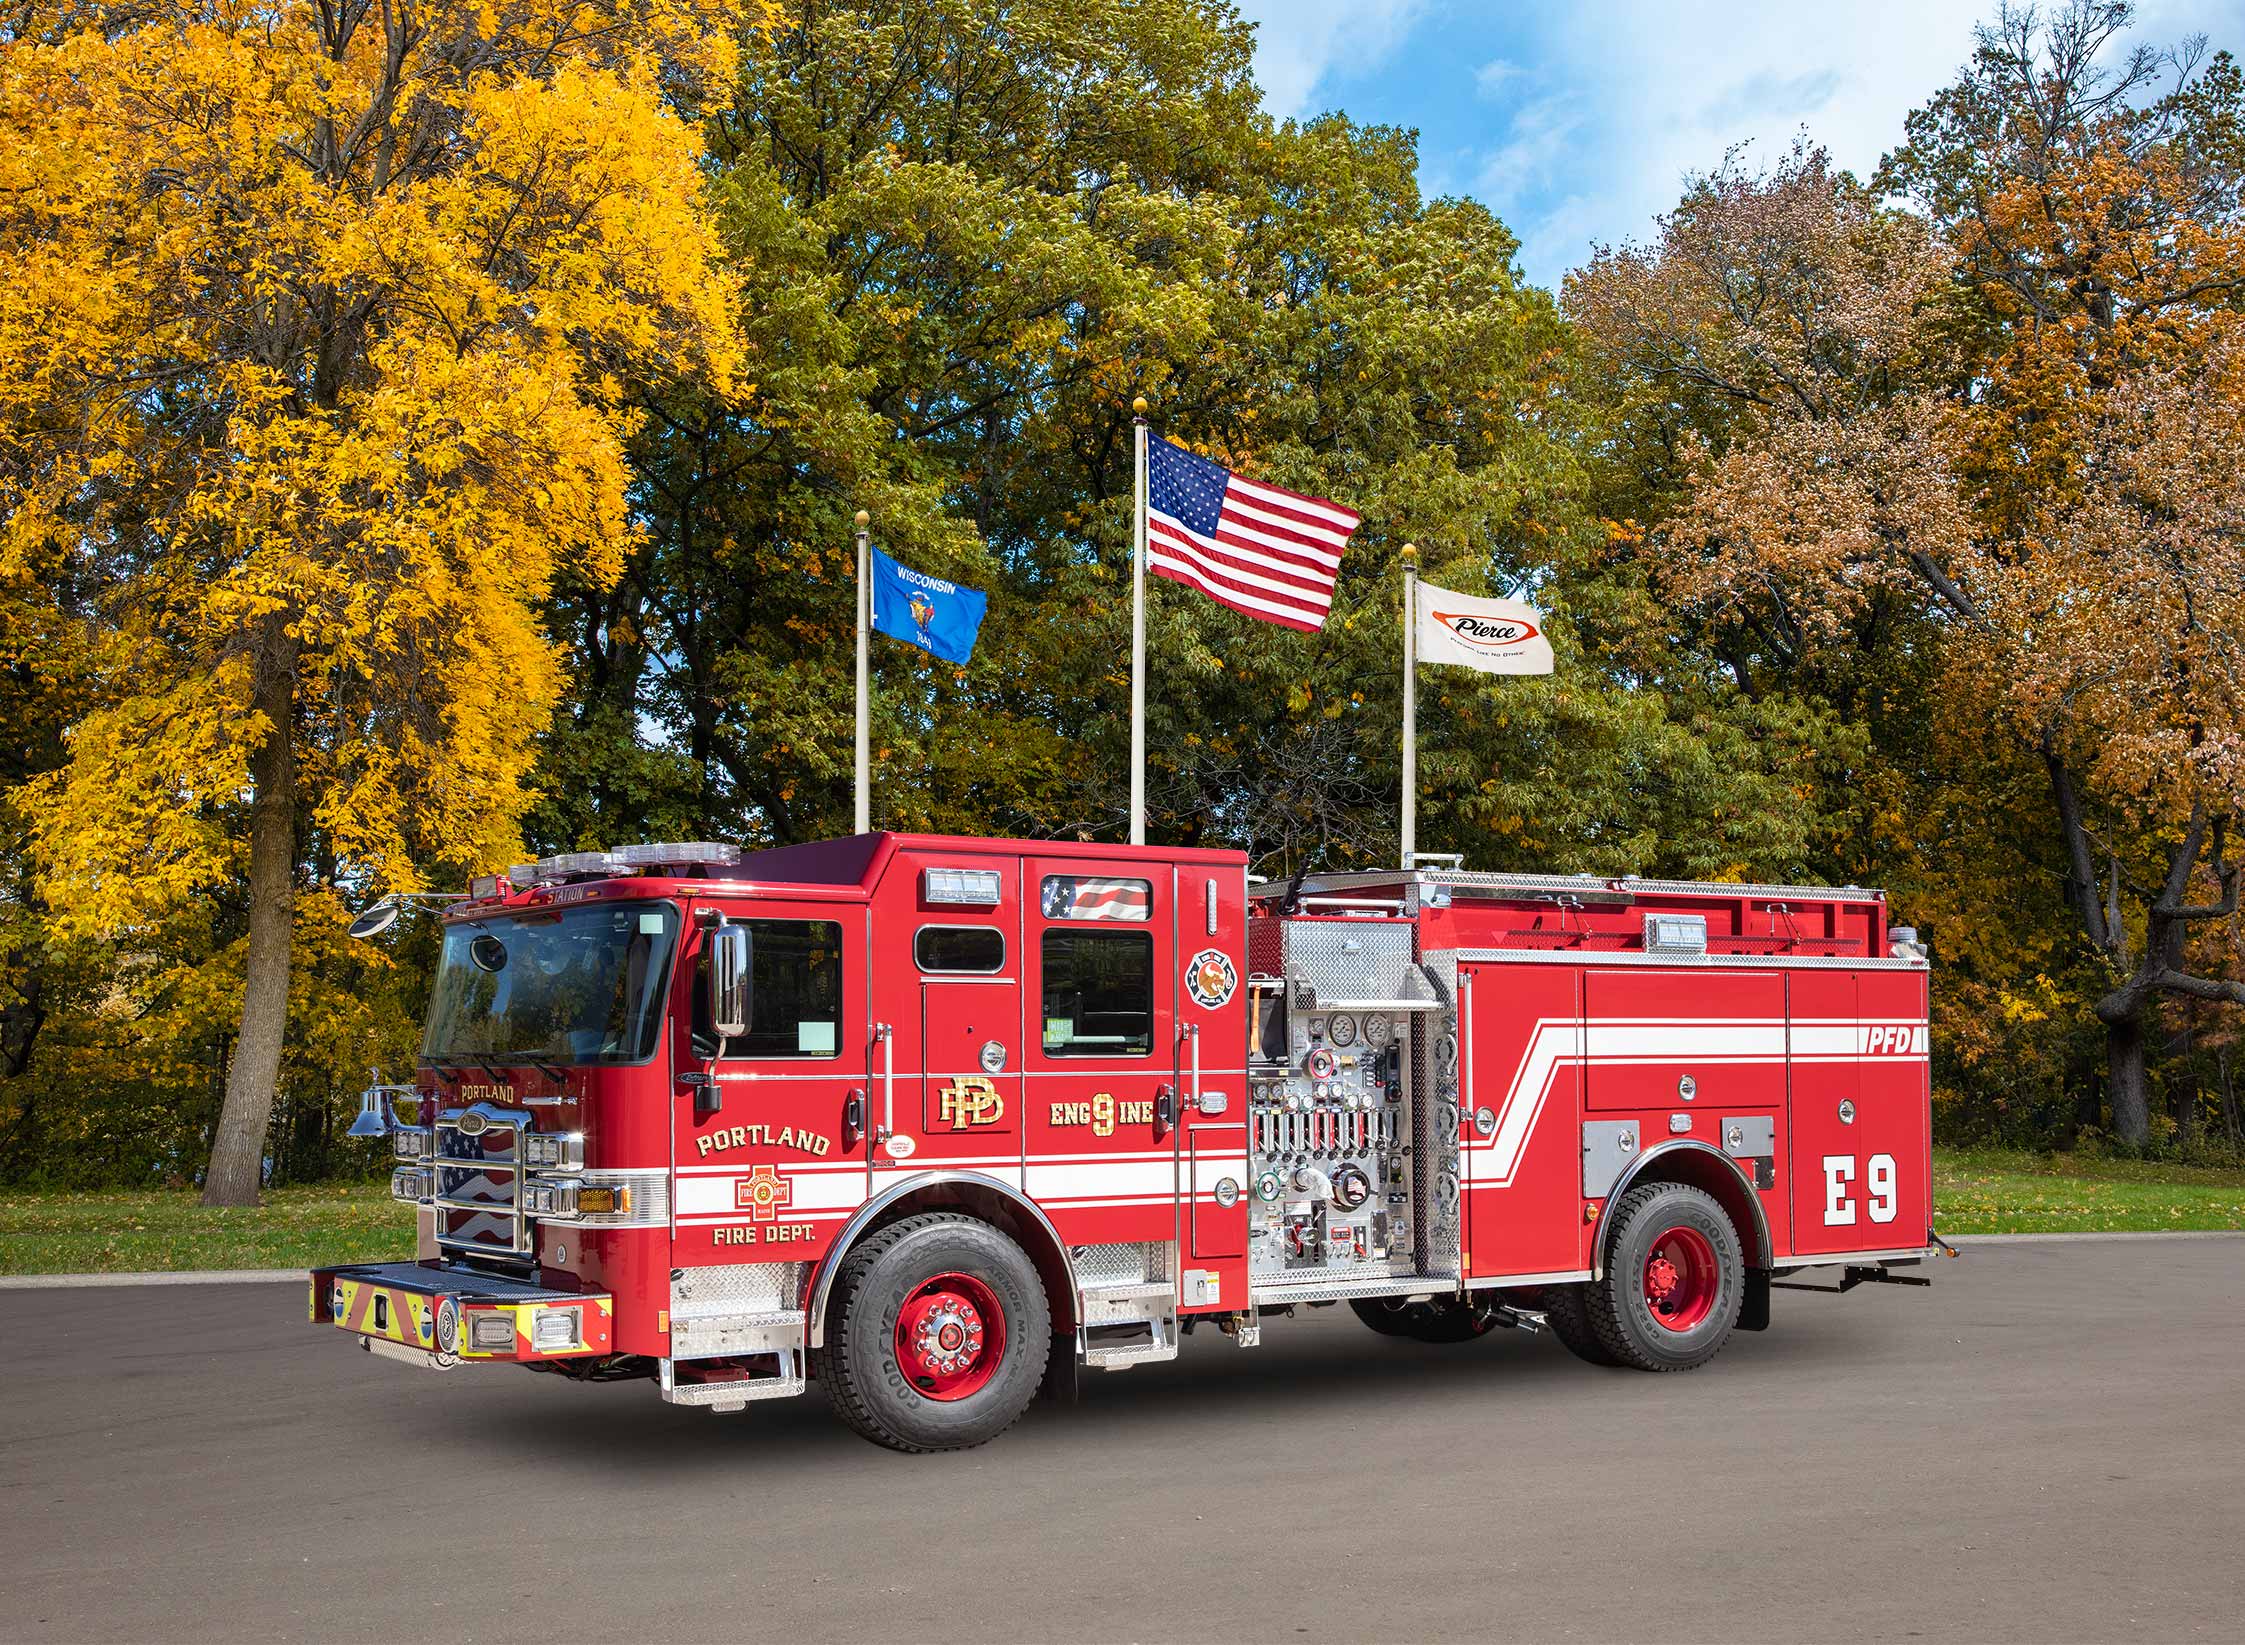
[[[314,1268],[406,1261],[413,1212],[388,1183],[281,1187],[211,1212],[186,1192],[0,1194],[0,1275]]]

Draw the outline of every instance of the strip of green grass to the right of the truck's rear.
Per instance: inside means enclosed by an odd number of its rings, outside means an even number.
[[[1933,1149],[1933,1225],[1944,1234],[2245,1228],[2245,1169]]]

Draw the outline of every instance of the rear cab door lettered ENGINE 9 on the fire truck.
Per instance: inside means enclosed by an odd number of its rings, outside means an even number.
[[[1028,1196],[1069,1246],[1176,1239],[1176,936],[1167,864],[1021,866]]]

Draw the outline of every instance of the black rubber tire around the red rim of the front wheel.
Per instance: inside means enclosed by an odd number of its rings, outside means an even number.
[[[981,1387],[932,1398],[898,1360],[896,1322],[938,1275],[977,1281],[1001,1313],[1004,1344]],[[925,1306],[925,1304],[923,1304]],[[1012,1427],[1044,1382],[1053,1308],[1035,1263],[990,1223],[954,1212],[907,1216],[867,1234],[835,1275],[817,1373],[842,1421],[902,1452],[965,1450]]]

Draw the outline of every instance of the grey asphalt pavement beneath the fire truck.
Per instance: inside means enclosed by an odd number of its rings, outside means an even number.
[[[429,1376],[294,1286],[7,1290],[0,1638],[2238,1638],[2245,1239],[1933,1277],[1690,1376],[1320,1308],[950,1456]]]

